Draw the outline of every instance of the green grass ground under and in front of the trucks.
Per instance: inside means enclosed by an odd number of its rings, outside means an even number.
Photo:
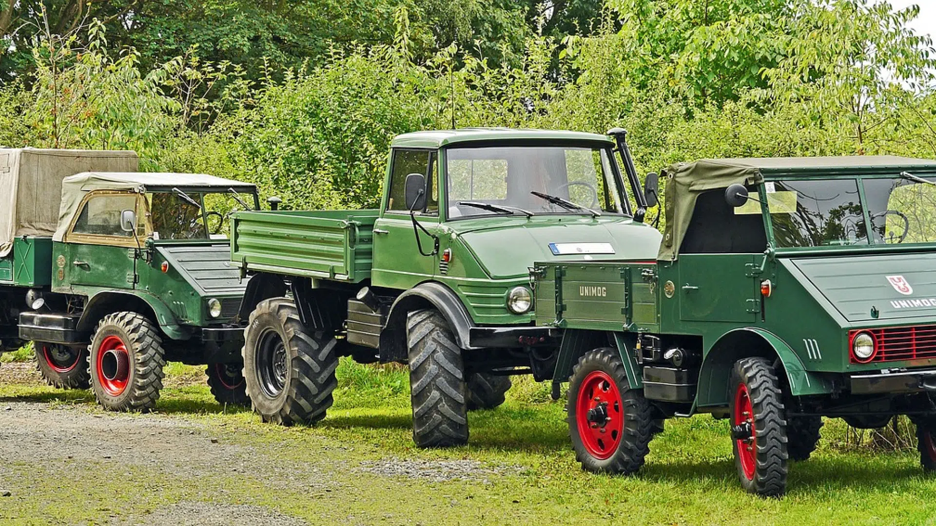
[[[71,506],[80,513],[70,517],[87,522],[110,520],[114,506],[102,511],[95,499],[102,491],[111,496],[116,491],[124,510],[222,499],[262,505],[312,524],[936,523],[936,476],[922,473],[915,451],[846,451],[840,446],[845,427],[839,421],[826,422],[812,460],[791,466],[787,496],[766,500],[739,488],[727,424],[710,416],[667,421],[638,475],[591,475],[575,461],[562,402],[548,402],[548,386],[525,379],[516,383],[504,406],[471,414],[468,446],[423,451],[411,440],[408,380],[402,372],[343,362],[328,418],[314,427],[284,429],[261,424],[250,412],[219,407],[201,384],[200,371],[172,365],[157,413],[205,426],[225,443],[262,452],[283,470],[207,478],[140,471],[139,478],[134,472],[106,491],[93,473],[75,472],[69,490],[58,492],[61,485],[45,480],[44,466],[18,464],[14,478],[32,493],[12,504],[31,514]],[[99,411],[85,391],[0,385],[0,398]],[[154,416],[122,417],[145,426]],[[361,469],[411,460],[428,466],[475,460],[483,475],[435,481]],[[270,469],[270,462],[264,465]],[[320,475],[289,475],[306,465]],[[299,484],[271,483],[283,477],[298,478]],[[157,488],[158,495],[142,500],[130,494]],[[81,494],[85,498],[76,498]],[[0,501],[0,509],[7,502]],[[7,507],[4,513],[0,518],[17,512]],[[55,516],[34,519],[54,521]]]

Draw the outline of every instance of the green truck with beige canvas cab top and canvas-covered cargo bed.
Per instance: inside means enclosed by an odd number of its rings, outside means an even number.
[[[246,403],[219,211],[258,208],[256,188],[137,165],[0,150],[0,350],[32,341],[52,385],[92,387],[110,410],[152,409],[166,360],[209,364],[218,402]]]

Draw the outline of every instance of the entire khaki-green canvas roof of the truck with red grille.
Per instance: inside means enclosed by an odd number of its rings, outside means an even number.
[[[734,183],[757,184],[765,177],[874,173],[904,169],[936,170],[936,161],[895,155],[842,157],[762,157],[701,159],[677,163],[665,169],[666,228],[659,259],[678,256],[682,239],[702,192],[726,188]]]

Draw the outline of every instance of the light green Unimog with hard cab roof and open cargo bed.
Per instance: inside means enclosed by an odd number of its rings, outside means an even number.
[[[408,363],[417,445],[455,446],[469,409],[504,402],[508,375],[552,378],[561,331],[534,326],[534,261],[649,260],[660,241],[641,223],[623,131],[613,135],[617,146],[562,131],[405,134],[379,210],[236,213],[256,412],[314,422],[338,357]]]

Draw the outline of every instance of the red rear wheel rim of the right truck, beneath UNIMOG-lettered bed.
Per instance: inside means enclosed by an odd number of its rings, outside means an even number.
[[[604,371],[592,371],[582,381],[576,401],[578,436],[595,459],[606,460],[621,445],[623,404],[617,384]]]

